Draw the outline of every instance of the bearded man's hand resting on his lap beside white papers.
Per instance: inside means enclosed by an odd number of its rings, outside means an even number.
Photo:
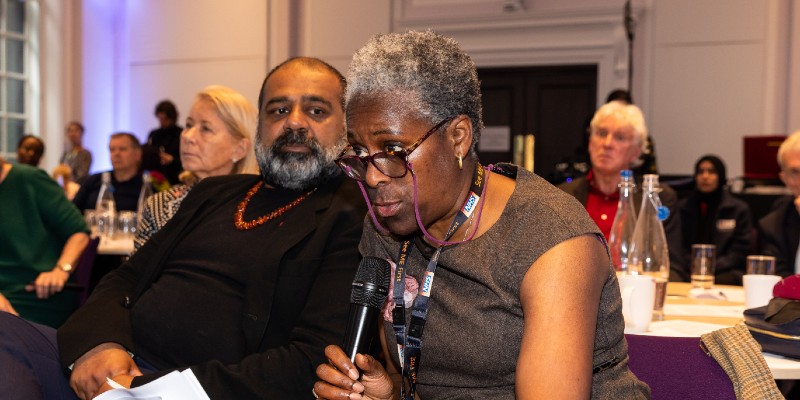
[[[103,385],[108,385],[106,378],[120,375],[142,375],[139,367],[133,362],[130,354],[117,343],[103,343],[82,355],[72,369],[69,385],[75,394],[83,400],[90,400],[103,390]],[[116,380],[116,379],[115,379]],[[120,384],[130,386],[130,380],[120,377]]]

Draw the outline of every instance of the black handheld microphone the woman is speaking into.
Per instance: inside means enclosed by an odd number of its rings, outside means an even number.
[[[354,363],[356,353],[369,352],[378,316],[389,293],[391,275],[391,264],[382,258],[364,257],[358,265],[350,292],[350,315],[342,344],[342,349]]]

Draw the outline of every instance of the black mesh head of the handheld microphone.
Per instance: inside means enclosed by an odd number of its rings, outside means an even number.
[[[389,294],[392,267],[389,261],[378,257],[364,257],[358,265],[350,292],[350,303],[380,310]]]

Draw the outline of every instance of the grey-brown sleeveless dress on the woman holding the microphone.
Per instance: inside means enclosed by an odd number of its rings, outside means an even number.
[[[514,177],[513,166],[504,166]],[[491,184],[491,183],[490,183]],[[520,168],[516,188],[497,223],[470,242],[442,251],[422,341],[418,393],[431,399],[514,399],[514,373],[522,341],[522,279],[539,256],[569,238],[600,234],[572,196]],[[424,274],[432,249],[413,246],[408,273]],[[400,242],[379,234],[366,219],[364,256],[397,261]],[[408,285],[407,285],[408,286]],[[391,297],[391,293],[389,295]],[[649,398],[628,369],[622,301],[609,263],[595,334],[592,398]],[[406,312],[406,324],[410,318]],[[392,362],[400,370],[397,341],[384,322]],[[570,362],[565,359],[563,362]]]

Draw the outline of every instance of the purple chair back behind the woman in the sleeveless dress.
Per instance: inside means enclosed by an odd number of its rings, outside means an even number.
[[[699,337],[625,335],[628,366],[650,385],[653,399],[735,399],[725,370],[700,348]]]

